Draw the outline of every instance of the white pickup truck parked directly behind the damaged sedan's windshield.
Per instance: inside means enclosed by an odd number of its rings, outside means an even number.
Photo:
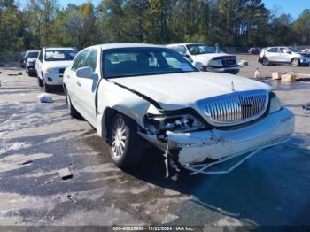
[[[200,71],[239,73],[240,66],[236,56],[231,56],[223,51],[216,53],[213,47],[205,43],[176,43],[167,45],[167,48],[179,52]]]

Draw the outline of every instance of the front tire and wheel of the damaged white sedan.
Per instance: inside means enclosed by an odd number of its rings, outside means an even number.
[[[141,159],[143,139],[136,133],[136,122],[116,114],[109,130],[110,155],[116,166],[131,166]]]

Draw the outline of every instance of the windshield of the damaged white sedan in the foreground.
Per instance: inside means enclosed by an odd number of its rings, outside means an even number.
[[[105,50],[102,60],[106,78],[198,72],[180,54],[163,48]]]

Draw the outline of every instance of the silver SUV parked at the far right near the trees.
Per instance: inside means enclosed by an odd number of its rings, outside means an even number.
[[[310,58],[293,47],[269,47],[261,50],[259,62],[263,66],[291,64],[291,66],[309,66]]]

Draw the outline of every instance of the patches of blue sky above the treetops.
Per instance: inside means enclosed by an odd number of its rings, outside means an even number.
[[[83,4],[92,2],[97,5],[101,0],[58,0],[58,2],[65,6],[66,4]],[[290,13],[293,19],[297,19],[299,14],[306,8],[310,8],[310,0],[262,0],[268,9],[273,10],[280,8],[278,14]],[[24,3],[26,0],[19,0],[19,3]]]

